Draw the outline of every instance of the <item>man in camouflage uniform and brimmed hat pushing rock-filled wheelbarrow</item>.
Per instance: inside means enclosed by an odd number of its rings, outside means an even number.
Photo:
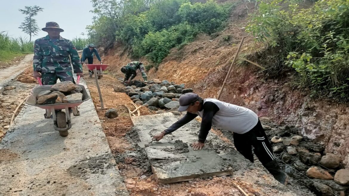
[[[42,29],[48,35],[35,40],[34,44],[34,77],[40,77],[43,85],[53,85],[60,81],[72,81],[73,73],[83,76],[79,54],[73,43],[59,34],[64,30],[55,22],[47,22]],[[69,59],[70,56],[70,59]],[[41,74],[40,74],[41,73]],[[75,82],[74,82],[75,83]]]

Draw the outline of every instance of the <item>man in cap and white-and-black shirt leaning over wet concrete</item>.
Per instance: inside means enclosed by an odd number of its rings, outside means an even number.
[[[225,103],[217,99],[202,99],[195,93],[185,93],[179,98],[178,111],[187,111],[186,115],[171,127],[154,136],[156,141],[172,133],[186,123],[202,118],[198,142],[194,142],[194,150],[201,150],[212,125],[232,131],[234,145],[246,159],[253,162],[254,153],[263,166],[282,184],[286,184],[287,175],[280,171],[273,150],[256,113],[245,107]]]

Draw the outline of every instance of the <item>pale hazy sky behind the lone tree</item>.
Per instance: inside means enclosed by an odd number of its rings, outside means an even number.
[[[67,39],[74,37],[87,37],[86,26],[92,23],[92,4],[90,0],[6,0],[1,1],[0,12],[0,32],[7,31],[11,37],[27,37],[29,35],[18,29],[24,21],[25,15],[18,9],[24,9],[24,6],[39,6],[44,8],[34,16],[38,27],[40,28],[37,36],[32,37],[35,40],[47,35],[41,29],[45,27],[46,22],[57,22],[59,27],[64,29],[61,36]],[[81,33],[85,35],[81,35]]]

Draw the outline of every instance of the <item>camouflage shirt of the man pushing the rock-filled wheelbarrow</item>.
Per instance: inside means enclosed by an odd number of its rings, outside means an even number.
[[[70,62],[70,59],[71,62]],[[49,35],[35,40],[34,43],[34,71],[42,73],[62,73],[72,71],[70,63],[73,64],[74,73],[82,73],[82,66],[73,43],[61,36],[52,40]]]

